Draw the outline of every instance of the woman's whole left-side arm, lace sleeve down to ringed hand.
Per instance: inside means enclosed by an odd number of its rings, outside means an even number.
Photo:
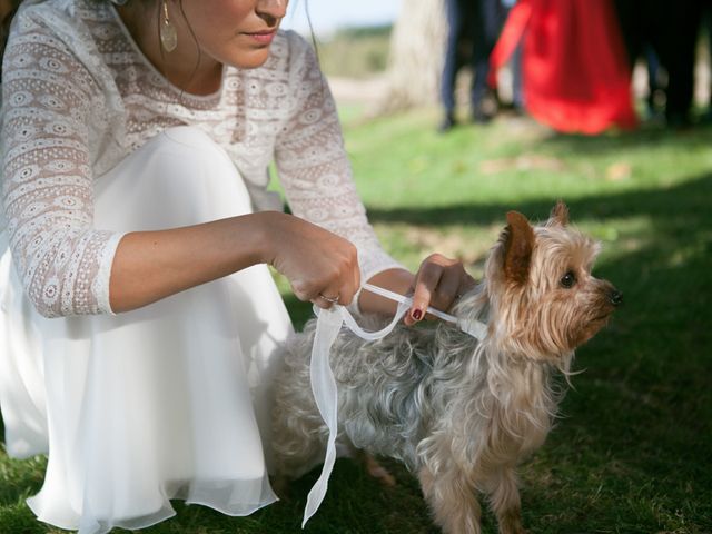
[[[93,226],[89,146],[103,91],[50,28],[19,16],[6,55],[2,208],[26,291],[47,317],[135,309],[189,287],[268,263],[298,298],[352,300],[356,250],[285,214],[127,235]]]

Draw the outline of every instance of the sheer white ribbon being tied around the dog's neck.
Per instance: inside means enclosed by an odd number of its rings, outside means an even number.
[[[390,300],[398,303],[393,320],[383,329],[378,332],[364,330],[352,314],[345,306],[334,305],[329,309],[319,309],[314,307],[314,313],[317,315],[316,334],[314,336],[314,345],[312,346],[312,363],[309,366],[309,376],[312,380],[312,393],[316,400],[317,408],[322,418],[326,423],[329,429],[329,437],[326,443],[326,458],[324,459],[324,466],[322,467],[322,474],[318,481],[312,487],[307,497],[307,504],[304,510],[304,521],[301,527],[307,524],[307,521],[316,513],[322,501],[326,496],[326,490],[329,483],[329,475],[334,468],[334,462],[336,461],[336,436],[338,433],[338,394],[336,390],[336,379],[334,373],[329,366],[329,353],[332,345],[336,340],[342,326],[345,324],[349,330],[356,334],[358,337],[373,342],[386,337],[398,322],[406,314],[408,308],[413,304],[413,299],[404,297],[397,293],[389,291],[383,287],[373,286],[370,284],[364,284],[364,289],[380,295]],[[441,319],[455,323],[459,328],[469,334],[473,337],[482,340],[487,332],[487,326],[478,320],[461,320],[448,314],[444,314],[437,309],[427,308],[427,313],[439,317]]]

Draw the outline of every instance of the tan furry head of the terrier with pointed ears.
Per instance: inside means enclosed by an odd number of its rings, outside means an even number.
[[[558,362],[606,324],[621,294],[591,275],[601,247],[568,226],[563,202],[544,225],[516,211],[507,222],[485,266],[494,333],[510,354]]]

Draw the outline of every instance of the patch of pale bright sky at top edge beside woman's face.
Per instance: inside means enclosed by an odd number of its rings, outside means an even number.
[[[305,14],[307,0],[290,0],[283,28],[308,31]],[[308,0],[312,23],[317,36],[328,36],[338,28],[376,26],[393,22],[403,0]]]

